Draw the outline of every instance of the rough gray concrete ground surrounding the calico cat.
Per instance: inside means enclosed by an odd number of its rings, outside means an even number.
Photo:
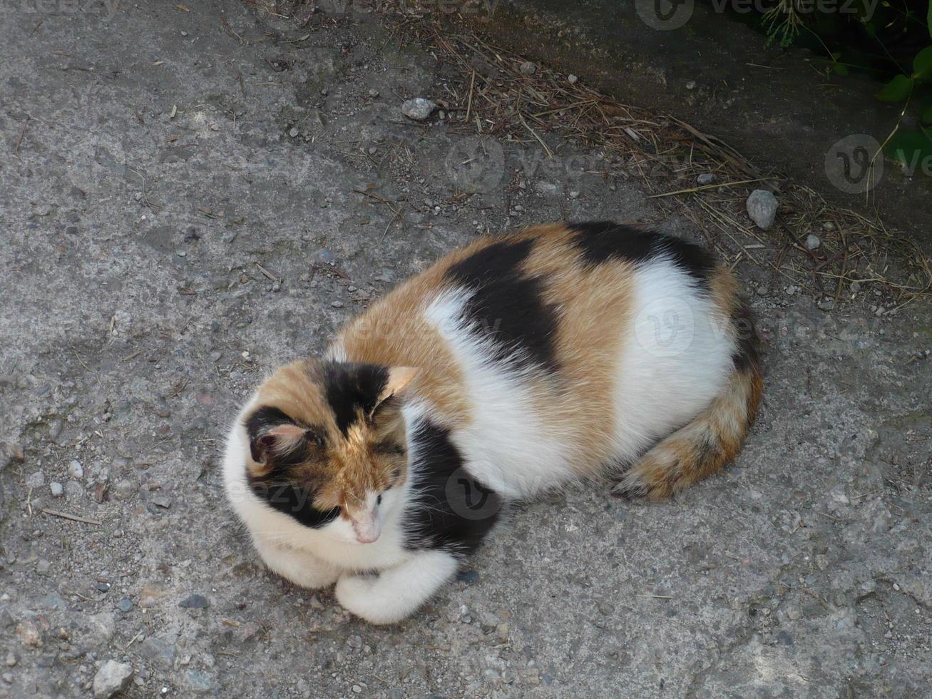
[[[391,628],[265,571],[217,454],[264,372],[477,229],[657,212],[508,143],[454,196],[463,137],[399,112],[444,66],[375,16],[186,7],[3,7],[0,696],[111,660],[133,697],[928,695],[932,312],[870,285],[826,313],[738,267],[761,417],[674,501],[517,508]]]

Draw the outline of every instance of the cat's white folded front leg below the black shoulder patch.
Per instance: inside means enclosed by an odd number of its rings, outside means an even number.
[[[336,582],[336,600],[370,624],[394,624],[418,610],[458,566],[445,551],[419,551],[378,576],[344,573]]]

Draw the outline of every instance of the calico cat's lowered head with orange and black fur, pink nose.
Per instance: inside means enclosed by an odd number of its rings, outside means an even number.
[[[307,527],[376,541],[401,500],[407,475],[401,394],[417,374],[410,367],[314,360],[276,371],[244,416],[253,492]]]

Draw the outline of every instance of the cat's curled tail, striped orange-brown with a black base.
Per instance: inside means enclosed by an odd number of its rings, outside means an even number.
[[[724,390],[688,425],[654,445],[625,472],[612,493],[662,500],[734,459],[761,402],[760,347],[747,304],[733,295],[733,372]]]

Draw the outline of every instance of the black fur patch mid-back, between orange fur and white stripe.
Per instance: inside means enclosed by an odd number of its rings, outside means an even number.
[[[543,302],[541,280],[521,272],[533,240],[493,243],[446,271],[473,291],[466,317],[493,339],[495,358],[554,368],[555,309]]]

